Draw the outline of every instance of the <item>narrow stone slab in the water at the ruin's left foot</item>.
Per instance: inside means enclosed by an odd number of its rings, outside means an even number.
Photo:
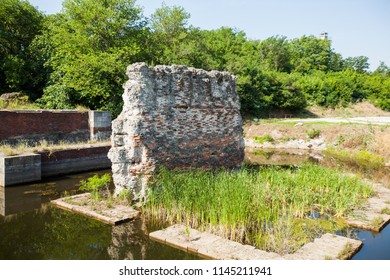
[[[109,225],[118,225],[140,215],[140,212],[131,206],[112,203],[111,207],[107,207],[105,201],[93,201],[92,203],[91,201],[90,194],[84,193],[53,200],[51,203],[59,208],[94,218]]]

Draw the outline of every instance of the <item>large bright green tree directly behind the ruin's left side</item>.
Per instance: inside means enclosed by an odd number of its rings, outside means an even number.
[[[135,0],[66,0],[48,34],[52,68],[40,102],[121,111],[126,66],[145,58],[146,22]]]

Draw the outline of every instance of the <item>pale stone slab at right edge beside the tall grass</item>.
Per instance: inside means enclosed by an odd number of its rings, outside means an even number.
[[[370,197],[362,210],[353,211],[346,219],[350,226],[381,231],[390,222],[390,189],[373,185],[376,195]]]

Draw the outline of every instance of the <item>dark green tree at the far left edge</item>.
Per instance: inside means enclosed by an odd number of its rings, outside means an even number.
[[[0,2],[0,93],[23,91],[36,97],[43,69],[31,44],[40,34],[43,15],[27,1]]]

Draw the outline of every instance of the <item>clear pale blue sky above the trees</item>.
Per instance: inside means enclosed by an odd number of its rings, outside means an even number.
[[[61,10],[62,0],[29,0],[47,14]],[[202,29],[229,26],[249,39],[274,35],[289,39],[326,31],[342,56],[369,57],[371,70],[390,66],[390,0],[137,0],[150,16],[165,2],[182,6],[189,23]]]

